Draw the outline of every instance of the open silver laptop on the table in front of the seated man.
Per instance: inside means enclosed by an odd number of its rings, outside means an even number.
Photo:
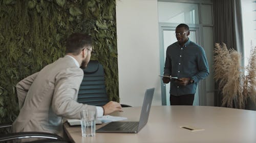
[[[150,108],[153,99],[155,88],[147,89],[140,113],[139,122],[111,122],[99,129],[96,132],[105,133],[138,133],[147,123],[150,115]]]

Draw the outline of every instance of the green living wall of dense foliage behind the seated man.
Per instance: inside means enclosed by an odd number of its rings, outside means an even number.
[[[115,0],[0,0],[0,124],[18,115],[15,85],[65,54],[66,38],[90,33],[110,100],[119,101]]]

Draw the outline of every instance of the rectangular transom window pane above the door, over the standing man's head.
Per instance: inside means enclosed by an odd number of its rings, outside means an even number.
[[[158,2],[159,22],[198,24],[198,5]]]

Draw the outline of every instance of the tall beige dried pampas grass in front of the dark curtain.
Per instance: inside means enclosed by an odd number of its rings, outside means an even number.
[[[248,74],[244,75],[241,67],[241,54],[234,49],[228,50],[226,44],[215,44],[214,78],[219,82],[222,92],[222,106],[244,108],[247,97],[256,100],[256,47],[252,49]]]

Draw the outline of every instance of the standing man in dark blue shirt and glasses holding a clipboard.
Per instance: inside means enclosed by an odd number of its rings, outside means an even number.
[[[177,42],[167,47],[164,83],[170,82],[170,105],[193,105],[199,80],[209,75],[204,49],[188,38],[189,27],[179,24],[176,27]]]

